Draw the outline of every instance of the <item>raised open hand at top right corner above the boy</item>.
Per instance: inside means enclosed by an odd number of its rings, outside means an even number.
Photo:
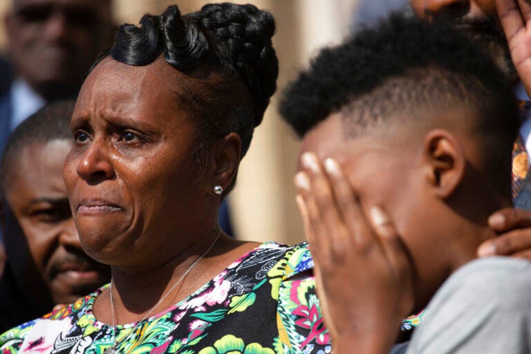
[[[528,95],[531,93],[531,3],[528,0],[496,0],[496,9],[512,62]]]

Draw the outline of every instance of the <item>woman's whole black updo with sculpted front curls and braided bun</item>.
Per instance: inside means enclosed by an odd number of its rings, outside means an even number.
[[[196,118],[199,149],[235,132],[243,156],[277,88],[274,30],[272,15],[253,5],[209,4],[184,16],[173,5],[162,15],[144,15],[140,26],[120,26],[115,44],[93,68],[108,55],[134,66],[163,55],[182,73],[198,69],[203,74],[189,75],[180,100]]]

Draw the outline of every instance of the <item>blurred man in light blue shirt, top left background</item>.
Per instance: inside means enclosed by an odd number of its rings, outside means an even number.
[[[46,102],[75,98],[97,54],[112,44],[111,1],[11,1],[3,17],[0,153],[17,125]]]

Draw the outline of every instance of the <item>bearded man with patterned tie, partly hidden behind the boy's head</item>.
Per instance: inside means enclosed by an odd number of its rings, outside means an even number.
[[[463,30],[474,41],[487,48],[508,79],[513,82],[516,95],[521,100],[522,124],[513,151],[512,195],[516,207],[531,209],[531,175],[528,176],[530,160],[527,152],[531,149],[531,104],[527,93],[531,88],[531,70],[528,68],[528,60],[524,60],[524,57],[531,55],[531,34],[525,30],[525,23],[529,19],[526,14],[530,13],[531,5],[526,1],[516,0],[410,2],[416,16],[429,21],[450,21],[456,28]],[[499,19],[496,2],[505,10],[511,10],[506,12],[506,15],[510,16],[505,16],[505,21]],[[507,45],[507,38],[511,41],[510,45]],[[522,55],[523,57],[518,57]]]

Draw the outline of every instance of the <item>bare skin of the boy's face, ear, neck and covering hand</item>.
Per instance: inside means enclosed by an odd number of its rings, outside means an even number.
[[[400,320],[495,236],[487,218],[510,194],[485,193],[467,114],[345,138],[335,113],[304,137],[297,203],[335,353],[388,353]]]

